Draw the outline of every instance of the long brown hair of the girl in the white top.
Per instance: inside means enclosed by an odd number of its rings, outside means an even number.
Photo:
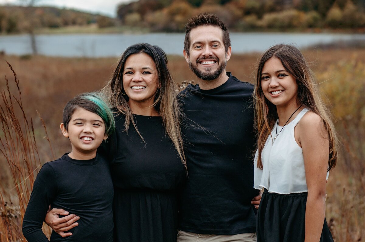
[[[269,135],[271,135],[275,121],[278,119],[276,106],[265,98],[261,87],[262,68],[266,61],[268,61],[271,57],[277,57],[281,61],[281,64],[283,64],[285,70],[287,70],[296,79],[298,84],[297,98],[299,103],[322,118],[324,127],[328,132],[328,170],[331,170],[337,162],[338,146],[338,139],[331,116],[328,112],[328,108],[326,108],[320,97],[319,90],[316,87],[317,84],[314,74],[310,70],[304,56],[296,47],[286,44],[274,45],[266,50],[258,62],[257,71],[255,73],[255,129],[258,133],[257,167],[260,169],[263,168],[261,152],[266,140]]]

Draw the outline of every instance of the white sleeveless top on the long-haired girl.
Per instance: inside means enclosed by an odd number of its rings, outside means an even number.
[[[283,130],[276,140],[276,120],[271,136],[266,140],[261,153],[264,169],[257,168],[258,151],[254,161],[254,188],[266,188],[271,193],[290,194],[307,192],[306,171],[304,169],[303,151],[294,138],[294,127],[308,111],[304,108]],[[310,131],[308,131],[310,132]],[[329,172],[327,171],[327,178]]]

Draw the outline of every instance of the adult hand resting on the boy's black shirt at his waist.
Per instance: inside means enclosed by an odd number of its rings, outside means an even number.
[[[47,211],[45,223],[50,226],[57,234],[61,235],[61,237],[68,237],[72,235],[72,233],[65,233],[64,231],[68,231],[73,227],[76,227],[78,223],[75,223],[80,217],[75,214],[68,215],[69,212],[63,209],[51,209]],[[58,215],[67,215],[66,217],[59,218]]]

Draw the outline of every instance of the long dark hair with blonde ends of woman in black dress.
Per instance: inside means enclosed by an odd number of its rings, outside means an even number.
[[[123,87],[123,70],[126,60],[129,56],[138,53],[149,55],[156,65],[159,88],[157,88],[154,94],[154,103],[152,106],[161,115],[166,134],[172,140],[181,162],[183,162],[186,169],[183,139],[180,130],[181,110],[176,98],[175,83],[168,69],[167,57],[160,47],[146,43],[134,44],[128,47],[120,57],[112,79],[105,85],[101,92],[107,95],[112,108],[117,108],[120,113],[126,116],[124,122],[125,131],[128,131],[129,125],[132,123],[143,140],[133,118],[132,110],[128,105],[129,97],[126,95]]]

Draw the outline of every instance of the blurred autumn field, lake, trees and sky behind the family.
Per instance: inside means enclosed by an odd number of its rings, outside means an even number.
[[[185,23],[200,12],[230,28],[227,71],[242,81],[274,44],[303,52],[341,140],[327,222],[335,241],[365,241],[365,0],[0,0],[0,241],[25,241],[34,178],[70,151],[59,130],[65,103],[103,87],[124,49],[159,45],[177,89],[197,83],[183,44]]]

